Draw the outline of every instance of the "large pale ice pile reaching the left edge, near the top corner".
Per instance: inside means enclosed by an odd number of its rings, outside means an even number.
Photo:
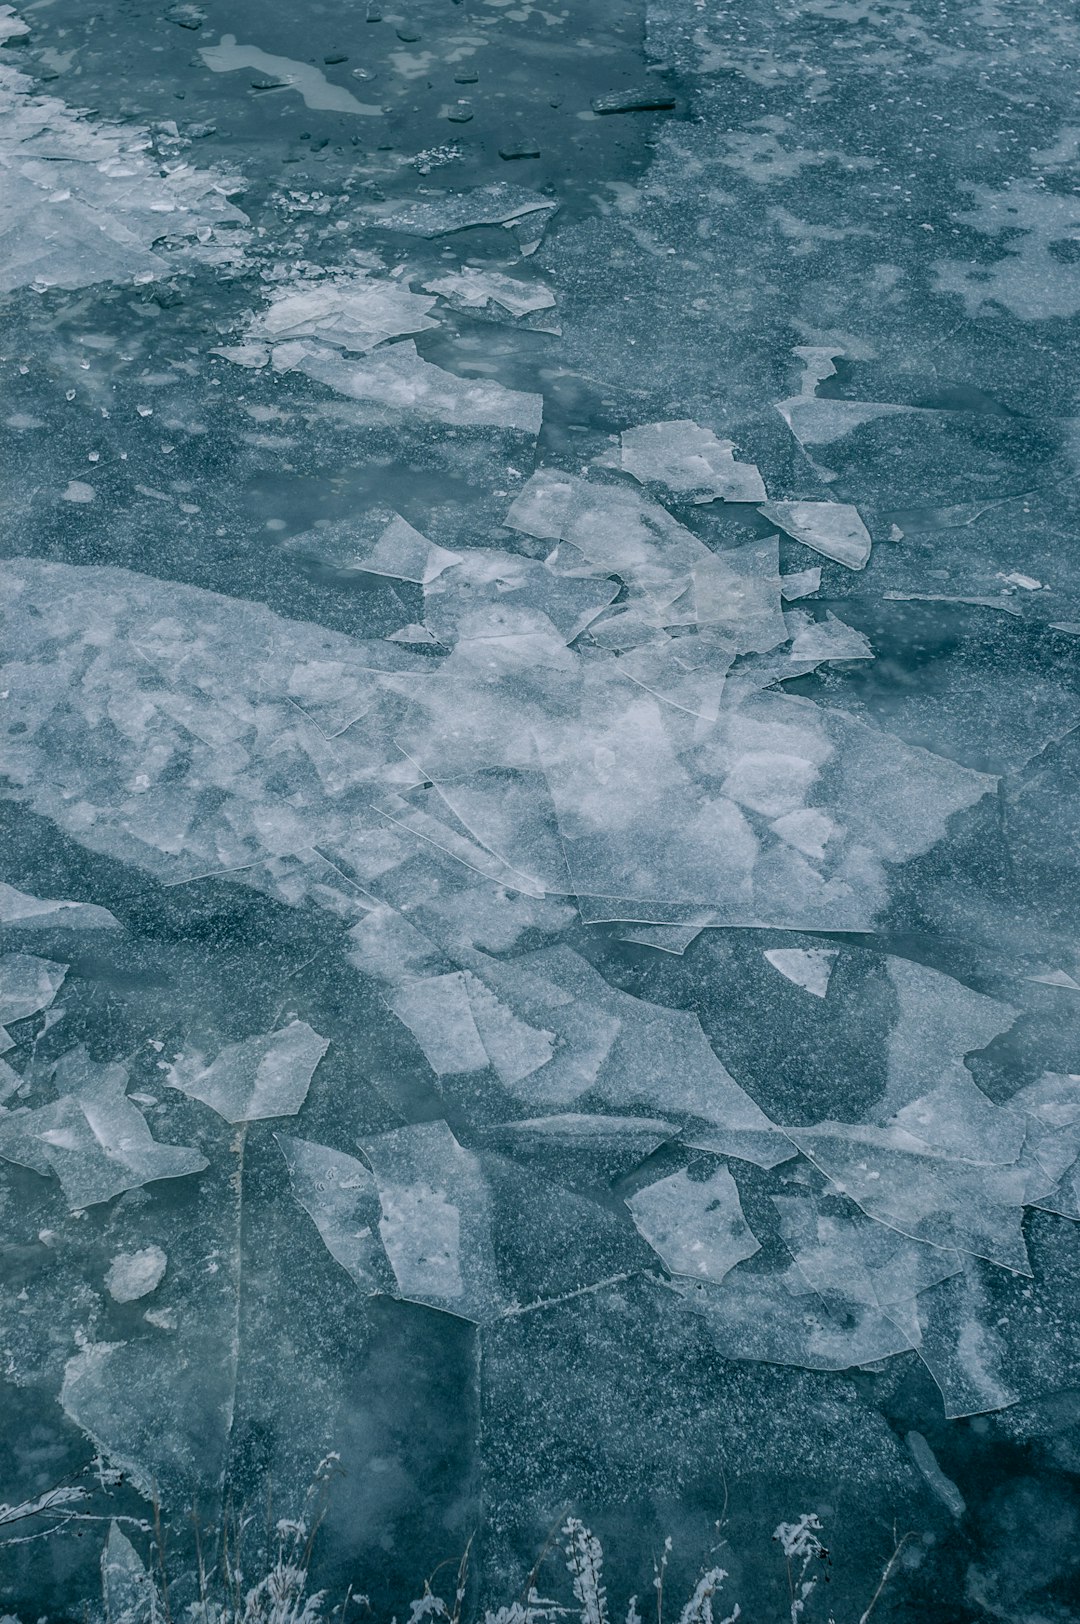
[[[239,261],[248,221],[227,198],[242,182],[187,161],[164,166],[151,148],[148,130],[91,122],[0,65],[0,291],[130,284]]]

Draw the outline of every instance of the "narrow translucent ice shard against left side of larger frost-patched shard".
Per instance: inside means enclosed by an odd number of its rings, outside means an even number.
[[[370,1168],[328,1145],[278,1134],[292,1194],[313,1220],[330,1255],[362,1291],[393,1291],[378,1237],[378,1192]]]

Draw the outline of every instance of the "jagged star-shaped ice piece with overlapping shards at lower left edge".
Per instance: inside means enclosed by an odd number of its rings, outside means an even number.
[[[55,1173],[71,1208],[112,1200],[154,1179],[208,1166],[187,1145],[161,1145],[127,1096],[127,1069],[99,1065],[83,1046],[57,1060],[58,1099],[32,1111],[0,1111],[0,1158]]]

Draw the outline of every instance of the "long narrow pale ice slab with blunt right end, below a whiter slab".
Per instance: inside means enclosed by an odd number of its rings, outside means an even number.
[[[383,411],[523,434],[539,434],[541,427],[542,395],[508,390],[492,378],[460,378],[422,361],[408,338],[361,361],[346,361],[336,351],[297,339],[278,344],[273,364],[278,372],[302,372],[336,395]]]

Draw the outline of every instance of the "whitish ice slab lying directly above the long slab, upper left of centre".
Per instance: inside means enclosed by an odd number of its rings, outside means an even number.
[[[438,326],[427,313],[434,304],[400,281],[362,274],[300,281],[270,296],[270,305],[248,323],[247,339],[281,344],[312,338],[359,352],[401,333]]]

